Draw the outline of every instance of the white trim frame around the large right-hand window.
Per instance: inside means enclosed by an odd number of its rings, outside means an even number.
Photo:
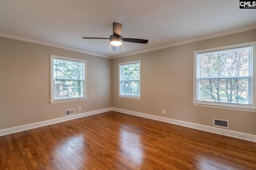
[[[205,102],[205,101],[197,101],[197,66],[198,66],[198,60],[197,55],[199,53],[206,53],[210,51],[219,51],[224,49],[232,49],[232,48],[238,48],[243,46],[252,45],[252,105],[236,105],[236,104],[227,104],[227,103],[217,103],[217,102]],[[194,78],[193,78],[193,105],[194,106],[200,106],[200,107],[212,107],[212,108],[218,108],[218,109],[230,109],[230,110],[238,110],[238,111],[250,111],[250,112],[256,112],[256,50],[254,49],[256,47],[256,41],[248,42],[248,43],[241,43],[241,44],[235,44],[235,45],[228,45],[224,47],[216,47],[211,49],[203,49],[194,51]]]

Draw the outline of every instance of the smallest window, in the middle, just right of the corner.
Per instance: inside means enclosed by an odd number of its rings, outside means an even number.
[[[140,65],[141,61],[119,64],[119,97],[141,99]]]

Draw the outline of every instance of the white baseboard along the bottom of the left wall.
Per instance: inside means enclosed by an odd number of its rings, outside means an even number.
[[[51,124],[54,124],[54,123],[60,123],[60,122],[68,121],[68,120],[72,120],[72,119],[77,119],[77,118],[80,118],[80,117],[95,115],[95,114],[98,114],[98,113],[103,113],[103,112],[111,111],[111,110],[112,110],[112,107],[106,108],[106,109],[95,110],[95,111],[89,111],[89,112],[86,112],[86,113],[80,113],[80,114],[76,114],[76,115],[60,117],[60,118],[57,118],[57,119],[40,121],[40,122],[36,122],[36,123],[31,123],[31,124],[28,124],[28,125],[21,125],[21,126],[11,127],[11,128],[8,128],[8,129],[2,129],[2,130],[0,130],[0,136],[8,135],[8,134],[11,134],[11,133],[16,133],[16,132],[20,132],[20,131],[25,131],[25,130],[28,130],[28,129],[34,129],[34,128],[42,127],[42,126],[46,126],[46,125],[51,125]]]

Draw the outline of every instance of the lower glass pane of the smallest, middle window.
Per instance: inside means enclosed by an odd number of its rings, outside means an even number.
[[[121,95],[140,96],[140,81],[122,81]]]

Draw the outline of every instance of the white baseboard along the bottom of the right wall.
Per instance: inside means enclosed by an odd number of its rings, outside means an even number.
[[[166,123],[172,123],[172,124],[180,125],[180,126],[184,126],[184,127],[189,127],[189,128],[192,128],[192,129],[198,129],[198,130],[201,130],[201,131],[206,131],[206,132],[210,132],[210,133],[216,133],[216,134],[219,134],[219,135],[225,135],[225,136],[228,136],[228,137],[243,139],[243,140],[246,140],[246,141],[256,142],[256,135],[252,135],[252,134],[248,134],[248,133],[242,133],[242,132],[231,131],[231,130],[228,130],[228,129],[222,129],[222,128],[218,128],[218,127],[200,125],[200,124],[196,124],[196,123],[180,121],[180,120],[170,119],[170,118],[166,118],[166,117],[160,117],[160,116],[149,115],[149,114],[145,114],[145,113],[139,113],[139,112],[135,112],[135,111],[129,111],[129,110],[125,110],[125,109],[118,109],[118,108],[115,108],[115,107],[112,107],[112,110],[113,111],[118,111],[118,112],[121,112],[121,113],[126,113],[126,114],[130,114],[130,115],[139,116],[139,117],[144,117],[144,118],[148,118],[148,119],[163,121],[163,122],[166,122]],[[246,135],[246,138],[238,137],[238,133],[242,134],[242,135]]]

